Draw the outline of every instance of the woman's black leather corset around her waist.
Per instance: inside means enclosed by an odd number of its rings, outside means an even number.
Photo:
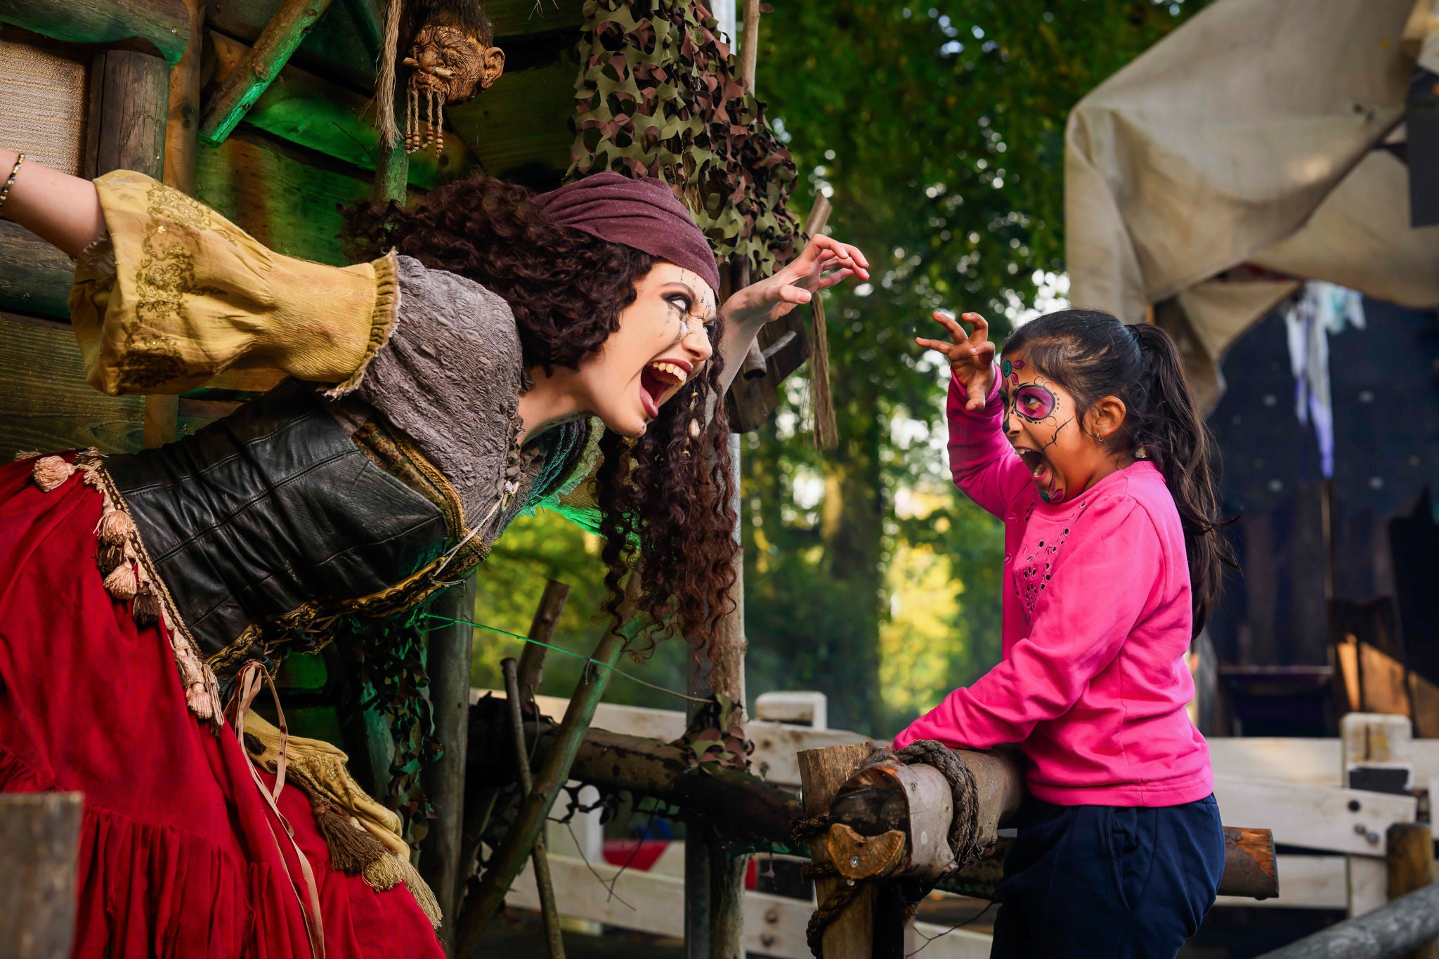
[[[105,466],[207,660],[252,624],[400,582],[450,533],[439,506],[361,453],[296,381]]]

